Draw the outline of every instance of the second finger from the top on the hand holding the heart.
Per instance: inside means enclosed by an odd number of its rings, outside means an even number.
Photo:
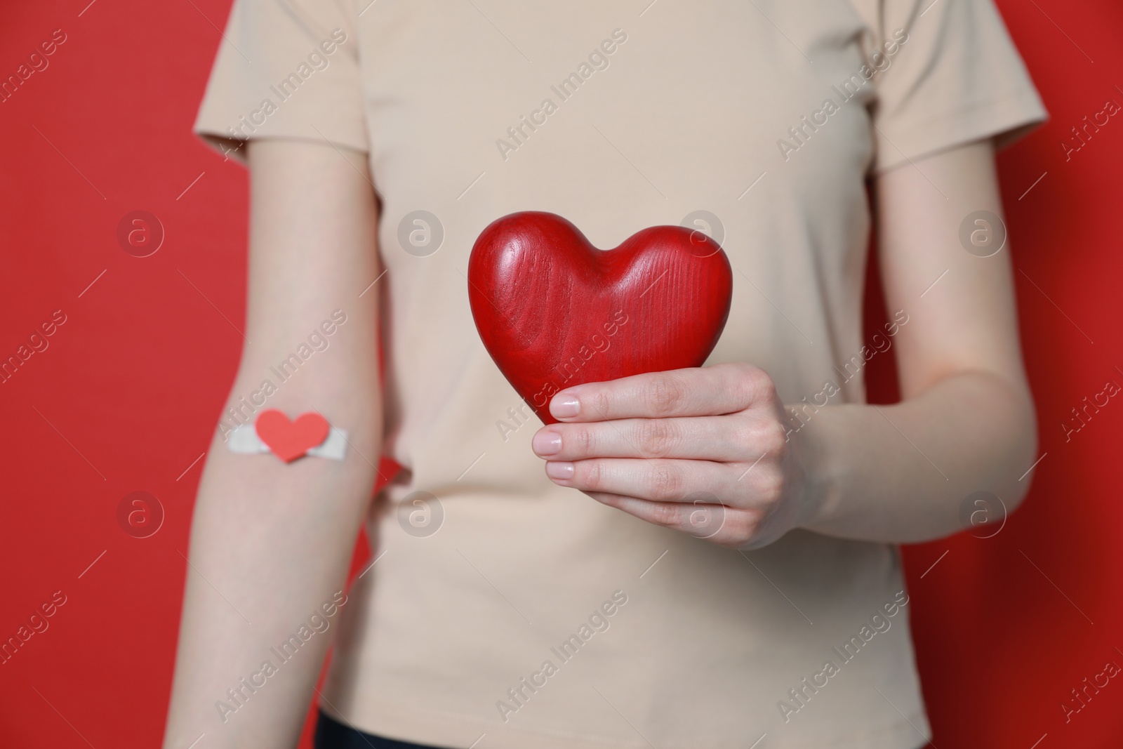
[[[557,423],[531,447],[549,460],[691,458],[733,463],[779,450],[785,430],[770,413]]]

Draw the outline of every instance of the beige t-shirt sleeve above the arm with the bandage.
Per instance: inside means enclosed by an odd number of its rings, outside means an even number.
[[[252,138],[367,150],[353,0],[235,0],[194,131],[245,161]]]

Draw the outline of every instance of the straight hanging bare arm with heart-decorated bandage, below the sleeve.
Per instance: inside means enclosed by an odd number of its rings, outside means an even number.
[[[343,462],[285,464],[230,453],[216,436],[194,509],[165,749],[202,733],[208,749],[295,746],[381,451],[378,286],[359,298],[380,272],[366,161],[326,143],[254,140],[248,162],[248,340],[227,405],[261,403],[268,380],[275,392],[258,413],[319,411],[350,445]]]

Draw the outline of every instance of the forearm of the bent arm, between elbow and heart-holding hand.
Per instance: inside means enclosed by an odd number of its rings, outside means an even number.
[[[792,439],[818,508],[804,527],[843,538],[947,536],[962,529],[960,505],[976,491],[1012,511],[1037,450],[1029,393],[985,372],[949,376],[895,405],[824,407],[803,418]]]

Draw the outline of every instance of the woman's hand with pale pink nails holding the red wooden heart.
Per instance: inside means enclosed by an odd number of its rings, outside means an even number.
[[[648,522],[732,548],[800,527],[819,499],[772,377],[748,364],[576,385],[532,446],[546,475]]]

